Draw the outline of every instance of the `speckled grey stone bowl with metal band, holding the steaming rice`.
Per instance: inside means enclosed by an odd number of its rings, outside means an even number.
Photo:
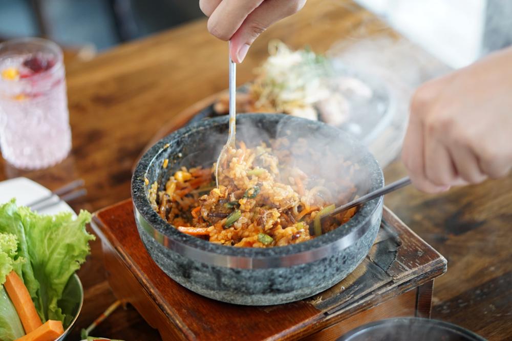
[[[281,114],[245,114],[237,119],[237,139],[265,140],[282,136],[323,136],[326,148],[346,155],[360,166],[364,179],[359,194],[382,187],[382,171],[366,148],[349,135],[322,122]],[[172,228],[153,210],[148,185],[163,188],[181,166],[215,161],[227,136],[228,117],[221,116],[186,126],[161,139],[136,166],[132,199],[140,238],[158,266],[184,287],[215,300],[242,305],[273,305],[302,300],[344,279],[367,255],[380,225],[382,198],[362,206],[342,228],[313,240],[273,248],[238,248],[209,243]],[[222,141],[211,143],[219,134]],[[291,141],[293,143],[293,140]],[[168,159],[167,168],[163,168]],[[316,165],[315,165],[316,166]],[[318,164],[322,167],[322,164]]]

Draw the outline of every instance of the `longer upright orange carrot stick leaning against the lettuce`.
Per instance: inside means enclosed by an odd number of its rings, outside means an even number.
[[[42,322],[35,310],[34,302],[32,302],[27,287],[23,284],[22,279],[19,278],[16,272],[11,271],[7,275],[4,287],[14,304],[19,319],[22,321],[25,333],[28,334],[40,327]]]

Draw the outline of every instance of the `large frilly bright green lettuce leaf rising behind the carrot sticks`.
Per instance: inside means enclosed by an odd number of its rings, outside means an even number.
[[[42,322],[61,321],[66,316],[58,306],[70,277],[85,262],[94,240],[86,230],[91,214],[80,211],[49,216],[39,215],[27,207],[17,207],[14,200],[0,206],[0,232],[12,233],[18,239],[17,254],[27,259],[21,272]]]

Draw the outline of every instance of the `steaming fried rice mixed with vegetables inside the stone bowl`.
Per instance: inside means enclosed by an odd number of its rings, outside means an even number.
[[[293,147],[305,148],[300,143]],[[247,148],[241,142],[222,161],[218,188],[215,164],[210,169],[182,167],[170,176],[164,190],[152,184],[148,199],[162,219],[211,243],[272,247],[304,242],[315,237],[318,212],[346,202],[355,188],[342,181],[341,193],[330,190],[334,184],[309,177],[290,162],[289,155],[283,139],[276,140],[273,148],[264,143]],[[347,222],[355,211],[323,219],[322,232]]]

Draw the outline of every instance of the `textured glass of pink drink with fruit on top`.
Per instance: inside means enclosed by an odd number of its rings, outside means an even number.
[[[0,44],[0,149],[17,168],[52,166],[69,154],[62,50],[49,40]]]

